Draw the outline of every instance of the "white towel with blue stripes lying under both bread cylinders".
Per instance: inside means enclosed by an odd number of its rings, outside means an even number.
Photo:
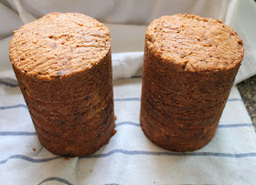
[[[89,157],[42,147],[15,80],[0,85],[0,184],[255,184],[256,135],[236,87],[203,149],[156,147],[139,125],[140,77],[114,81],[117,133]]]

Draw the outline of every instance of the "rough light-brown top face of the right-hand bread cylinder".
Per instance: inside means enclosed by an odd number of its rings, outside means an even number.
[[[181,70],[212,72],[240,66],[244,49],[237,33],[221,21],[198,15],[165,15],[146,30],[146,46]]]

